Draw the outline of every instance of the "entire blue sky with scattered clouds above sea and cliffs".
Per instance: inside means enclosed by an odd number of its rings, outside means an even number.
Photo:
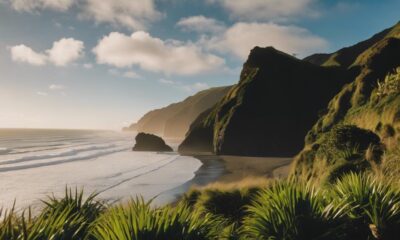
[[[400,0],[0,0],[0,128],[120,129],[239,80],[254,46],[298,58],[400,20]]]

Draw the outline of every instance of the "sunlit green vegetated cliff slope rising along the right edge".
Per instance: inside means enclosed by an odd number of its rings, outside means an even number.
[[[315,57],[321,59],[314,55],[307,60],[317,62]],[[379,152],[390,154],[398,149],[400,70],[396,68],[400,66],[400,24],[326,59],[319,63],[338,65],[330,64],[336,62],[357,74],[330,101],[325,114],[307,134],[305,148],[295,158],[292,174],[319,182],[332,181],[348,171],[383,167]],[[346,149],[329,154],[326,149],[335,148],[331,144],[333,132],[349,126],[375,134],[380,142],[360,147],[365,137],[354,137]]]

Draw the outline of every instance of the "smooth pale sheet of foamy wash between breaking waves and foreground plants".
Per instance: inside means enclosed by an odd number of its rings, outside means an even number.
[[[17,206],[24,208],[53,193],[62,196],[66,185],[101,192],[99,197],[110,201],[136,195],[151,199],[192,179],[200,166],[191,157],[124,151],[91,161],[9,171],[0,173],[0,202],[11,206],[16,199]]]

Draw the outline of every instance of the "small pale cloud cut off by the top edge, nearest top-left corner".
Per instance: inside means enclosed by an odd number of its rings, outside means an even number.
[[[76,0],[11,0],[11,6],[17,11],[32,12],[51,9],[55,11],[68,10]]]

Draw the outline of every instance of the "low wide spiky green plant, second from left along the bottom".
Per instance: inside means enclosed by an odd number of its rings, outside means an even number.
[[[131,200],[109,209],[96,222],[91,236],[119,240],[217,239],[221,221],[186,205],[152,208],[151,202]]]

